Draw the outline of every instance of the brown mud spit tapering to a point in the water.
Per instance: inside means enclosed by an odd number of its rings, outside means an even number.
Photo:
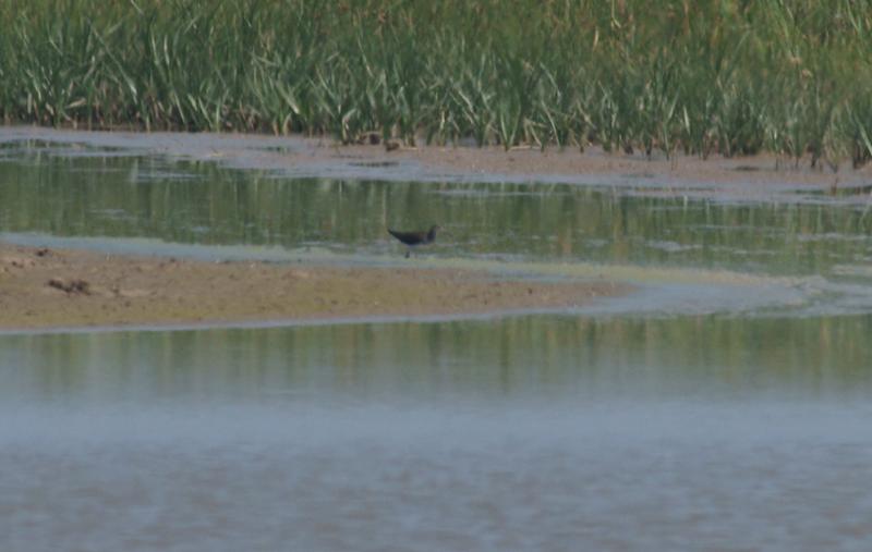
[[[0,330],[500,314],[628,291],[470,270],[206,262],[0,243]]]

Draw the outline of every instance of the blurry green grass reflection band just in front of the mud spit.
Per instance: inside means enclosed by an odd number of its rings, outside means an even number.
[[[872,391],[872,317],[590,319],[0,336],[4,402],[821,398]],[[265,394],[264,394],[265,393]],[[319,393],[325,393],[322,397]],[[239,396],[237,396],[239,395]],[[274,396],[275,395],[275,396]]]

